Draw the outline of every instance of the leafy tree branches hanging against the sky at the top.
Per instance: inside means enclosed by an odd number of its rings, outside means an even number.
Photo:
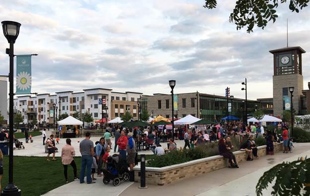
[[[285,3],[286,0],[280,0]],[[290,0],[289,9],[292,12],[299,12],[308,6],[309,0]],[[217,5],[217,0],[205,0],[203,7],[213,9]],[[267,23],[272,20],[276,21],[276,8],[279,0],[237,0],[233,12],[230,14],[229,21],[237,25],[237,30],[248,27],[247,32],[253,32],[253,27],[261,27],[264,29]]]

